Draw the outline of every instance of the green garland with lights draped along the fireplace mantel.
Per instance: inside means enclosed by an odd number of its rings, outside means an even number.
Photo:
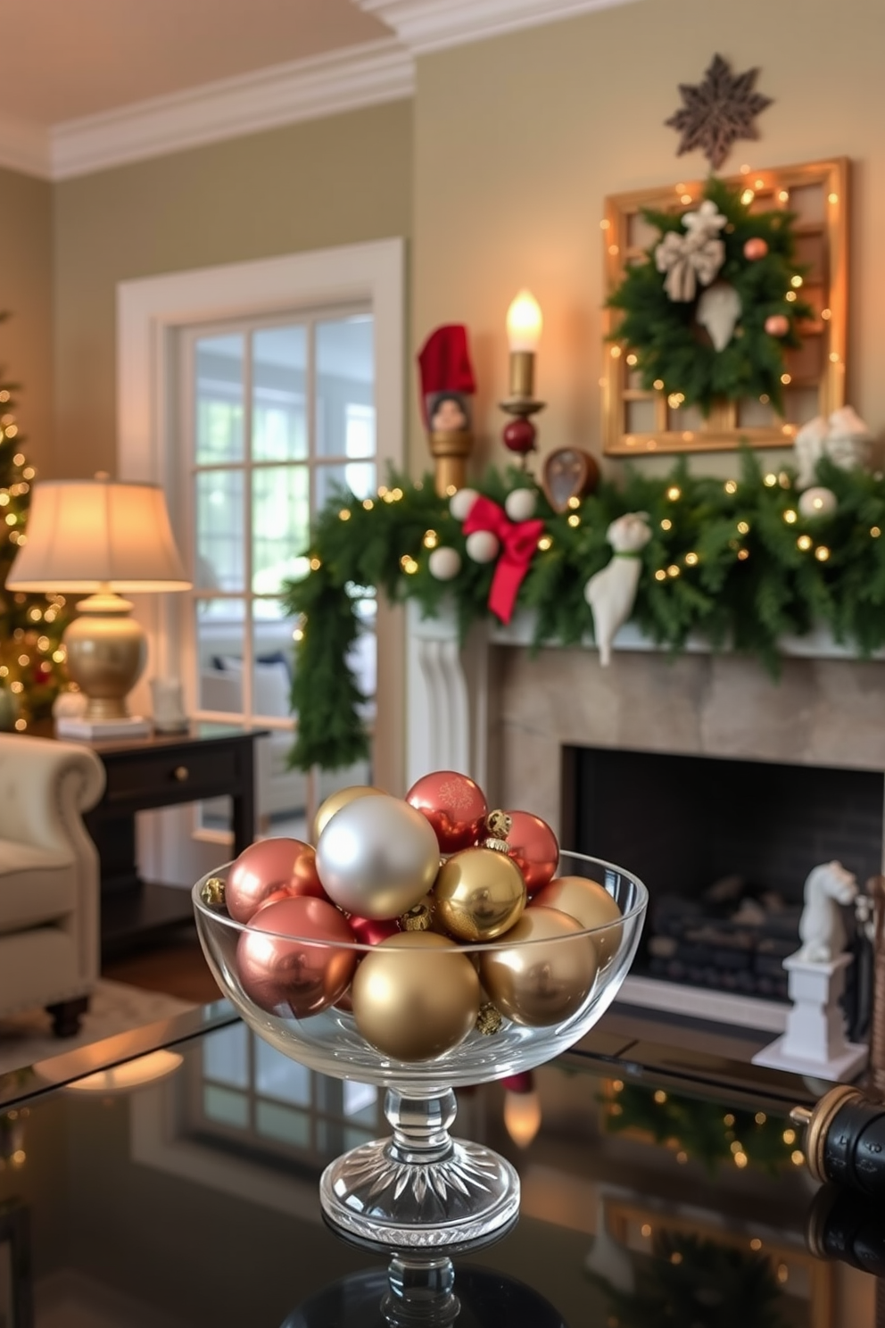
[[[584,586],[612,556],[609,523],[642,511],[653,537],[641,554],[632,622],[655,644],[679,653],[690,635],[701,635],[713,649],[755,653],[776,675],[779,640],[825,625],[836,641],[869,656],[885,645],[885,478],[824,459],[817,481],[836,494],[837,507],[811,519],[799,514],[795,473],[766,473],[750,450],[734,479],[694,475],[685,459],[663,478],[628,470],[621,483],[602,481],[567,513],[553,511],[539,489],[536,515],[551,543],[532,558],[516,600],[516,610],[533,614],[533,647],[593,639]],[[491,470],[475,487],[503,505],[511,490],[535,482],[516,469]],[[431,576],[434,544],[459,551],[452,580]],[[391,602],[414,599],[426,618],[454,608],[463,637],[491,618],[495,564],[467,558],[460,523],[430,475],[395,474],[375,499],[333,499],[316,522],[309,558],[308,575],[287,582],[283,595],[301,624],[291,764],[337,769],[368,754],[366,697],[346,664],[365,588]]]

